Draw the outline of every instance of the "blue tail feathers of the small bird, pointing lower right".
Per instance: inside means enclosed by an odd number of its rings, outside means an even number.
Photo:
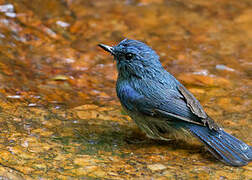
[[[188,125],[188,128],[222,162],[231,166],[244,166],[252,161],[252,147],[224,130],[210,130],[194,124]]]

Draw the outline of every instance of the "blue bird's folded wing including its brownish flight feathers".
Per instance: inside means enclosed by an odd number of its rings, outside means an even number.
[[[210,123],[211,118],[208,120],[209,117],[204,114],[205,112],[199,102],[185,88],[180,90],[182,93],[179,91],[183,96],[179,95],[179,98],[167,96],[163,100],[150,100],[148,97],[139,94],[130,85],[123,85],[118,88],[118,91],[121,103],[130,111],[140,112],[147,116],[162,117],[168,120],[184,121],[202,126],[215,124],[214,122]],[[194,112],[198,113],[199,116]],[[212,129],[212,125],[209,128]]]

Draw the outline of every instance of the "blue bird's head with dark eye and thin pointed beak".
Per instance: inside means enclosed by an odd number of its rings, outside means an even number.
[[[121,77],[141,78],[162,68],[159,56],[143,42],[124,39],[116,46],[104,44],[99,44],[99,46],[114,56]]]

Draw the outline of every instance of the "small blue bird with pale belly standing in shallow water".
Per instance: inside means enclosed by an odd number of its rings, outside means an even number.
[[[164,69],[151,47],[131,39],[116,46],[98,46],[114,56],[117,96],[147,137],[168,141],[168,134],[183,134],[196,137],[227,165],[240,167],[252,161],[252,146],[225,132],[193,94]]]

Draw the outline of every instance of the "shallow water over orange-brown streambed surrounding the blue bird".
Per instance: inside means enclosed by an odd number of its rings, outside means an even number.
[[[252,2],[0,0],[0,176],[250,179],[197,143],[153,141],[122,111],[98,43],[142,40],[252,145]]]

